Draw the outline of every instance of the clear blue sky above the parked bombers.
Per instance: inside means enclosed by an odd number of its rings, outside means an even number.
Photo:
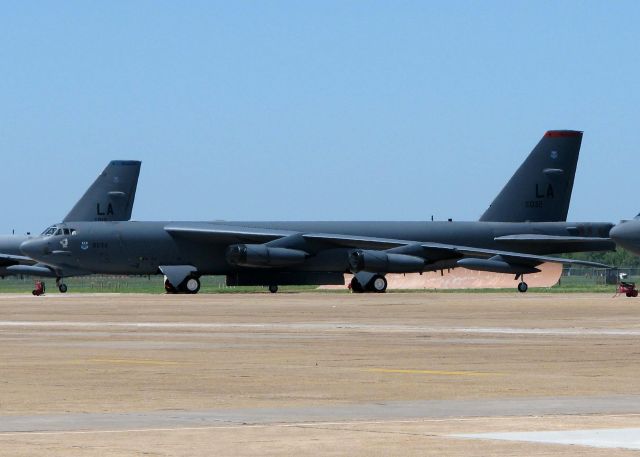
[[[548,129],[584,130],[570,219],[640,210],[640,2],[14,2],[0,233],[110,159],[138,220],[474,220]]]

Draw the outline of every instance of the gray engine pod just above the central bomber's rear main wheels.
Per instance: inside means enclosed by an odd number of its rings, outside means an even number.
[[[351,271],[373,273],[419,273],[424,269],[422,257],[384,251],[357,249],[349,254]]]

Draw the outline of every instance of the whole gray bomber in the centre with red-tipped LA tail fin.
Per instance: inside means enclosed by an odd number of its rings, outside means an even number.
[[[276,292],[344,273],[354,292],[384,292],[387,273],[456,267],[513,274],[525,292],[544,262],[604,266],[549,254],[614,249],[612,224],[565,222],[581,141],[546,132],[475,222],[63,222],[20,248],[62,269],[164,274],[167,292],[197,293],[202,275]]]

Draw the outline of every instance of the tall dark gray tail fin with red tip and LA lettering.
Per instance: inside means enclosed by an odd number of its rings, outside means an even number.
[[[566,221],[581,143],[582,132],[545,133],[480,220]]]

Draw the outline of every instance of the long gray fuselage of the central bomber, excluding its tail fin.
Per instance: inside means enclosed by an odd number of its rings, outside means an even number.
[[[25,243],[23,253],[62,268],[103,274],[156,274],[163,265],[192,265],[202,275],[222,275],[242,270],[225,258],[229,245],[253,242],[251,237],[229,236],[215,240],[184,238],[169,234],[169,225],[202,229],[251,228],[277,230],[285,234],[330,233],[376,237],[415,242],[473,246],[476,248],[518,251],[529,254],[553,254],[580,251],[558,243],[513,244],[496,237],[517,234],[583,236],[606,238],[610,223],[570,222],[68,222],[69,235],[38,237]],[[263,242],[263,241],[260,241]],[[603,241],[602,250],[613,243]],[[290,267],[297,271],[348,270],[351,248],[322,249],[303,264]],[[588,250],[594,250],[590,246]],[[439,269],[442,264],[427,265]],[[453,266],[453,265],[452,265]],[[447,268],[447,266],[444,266]]]

